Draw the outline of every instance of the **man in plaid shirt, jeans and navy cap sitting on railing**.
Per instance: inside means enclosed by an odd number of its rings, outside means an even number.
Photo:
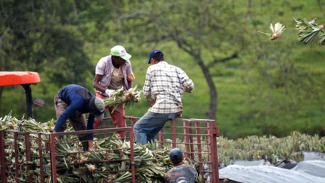
[[[134,124],[136,143],[155,141],[156,135],[168,120],[182,116],[183,93],[191,93],[194,84],[180,68],[165,61],[161,50],[149,54],[149,64],[143,95],[151,108]]]

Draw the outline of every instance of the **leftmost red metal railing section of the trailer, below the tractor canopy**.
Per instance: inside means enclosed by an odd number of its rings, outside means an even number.
[[[0,140],[1,182],[22,182],[22,180],[32,182],[33,175],[38,175],[40,180],[36,181],[43,183],[45,177],[51,176],[51,165],[44,162],[46,158],[50,158],[49,154],[45,152],[45,143],[48,141],[49,134],[46,133],[2,130]],[[14,153],[11,153],[12,148]],[[33,151],[36,148],[38,149],[37,154]],[[32,160],[39,163],[31,164]],[[35,172],[35,169],[38,171]],[[14,175],[15,178],[10,179],[10,176],[7,176],[9,174]]]

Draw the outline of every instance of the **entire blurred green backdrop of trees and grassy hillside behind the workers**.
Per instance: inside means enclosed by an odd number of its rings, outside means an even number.
[[[33,96],[47,103],[37,120],[55,117],[53,97],[68,84],[92,90],[95,65],[123,45],[136,84],[144,83],[148,53],[163,47],[196,85],[184,95],[188,118],[216,119],[228,137],[325,134],[323,47],[296,40],[292,16],[324,23],[320,1],[7,0],[0,1],[0,71],[35,71]],[[319,8],[315,8],[318,6]],[[276,7],[276,8],[275,8]],[[288,25],[270,42],[270,23]],[[146,64],[146,63],[145,63]],[[0,114],[21,114],[21,86],[0,87]],[[14,97],[12,97],[14,94]],[[149,106],[126,111],[140,117]],[[190,111],[190,112],[188,112]],[[218,112],[216,112],[218,111]],[[36,112],[36,111],[35,111]]]

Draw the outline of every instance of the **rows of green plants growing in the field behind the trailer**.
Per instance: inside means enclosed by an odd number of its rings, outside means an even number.
[[[168,140],[167,140],[168,141]],[[181,143],[183,140],[177,138]],[[195,141],[194,141],[195,142]],[[171,148],[170,144],[166,145]],[[185,149],[184,144],[179,144],[179,148]],[[325,152],[325,137],[319,137],[302,134],[298,131],[292,131],[290,136],[278,138],[275,136],[248,136],[237,140],[227,137],[217,137],[218,163],[225,166],[233,163],[234,160],[260,160],[270,161],[274,165],[285,161],[295,162],[304,161],[303,151]],[[194,146],[196,150],[197,147]],[[207,150],[207,145],[202,149]],[[203,157],[207,159],[207,155]]]

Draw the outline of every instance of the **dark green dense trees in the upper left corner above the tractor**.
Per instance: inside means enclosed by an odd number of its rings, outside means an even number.
[[[46,73],[51,83],[42,83],[44,93],[48,85],[78,84],[90,75],[71,1],[1,1],[0,7],[1,71]]]

